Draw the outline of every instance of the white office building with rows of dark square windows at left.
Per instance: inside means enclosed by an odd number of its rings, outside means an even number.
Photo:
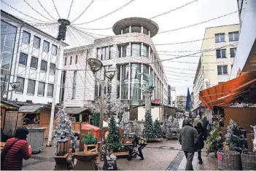
[[[59,47],[61,46],[61,47]],[[1,10],[1,93],[2,98],[47,104],[53,100],[55,74],[61,83],[63,47],[55,37]],[[60,50],[58,50],[60,48]],[[15,91],[11,84],[18,82]],[[57,86],[56,103],[60,86]],[[6,93],[5,93],[6,92]]]

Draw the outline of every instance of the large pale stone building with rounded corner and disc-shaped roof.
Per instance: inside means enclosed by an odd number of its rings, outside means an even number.
[[[130,107],[144,103],[140,87],[147,82],[147,73],[153,77],[156,89],[152,101],[168,104],[167,80],[163,72],[152,37],[158,25],[140,17],[125,18],[113,26],[115,36],[95,39],[93,44],[64,51],[62,100],[66,107],[90,105],[101,95],[98,80],[106,80],[104,71],[117,71],[114,79],[106,84],[105,93],[120,98]],[[86,61],[101,60],[104,67],[94,76]]]

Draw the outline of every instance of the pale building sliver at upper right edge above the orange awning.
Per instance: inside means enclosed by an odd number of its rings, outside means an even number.
[[[237,2],[241,31],[230,79],[241,73],[256,71],[256,1]]]

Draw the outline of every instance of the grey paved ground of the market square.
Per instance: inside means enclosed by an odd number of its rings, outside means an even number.
[[[33,154],[30,159],[23,161],[23,170],[53,170],[55,160],[53,158],[55,148],[44,148],[39,154]],[[177,140],[163,140],[161,143],[149,143],[143,149],[144,160],[117,159],[119,170],[184,170],[186,159]],[[195,170],[217,170],[217,159],[206,157],[203,154],[203,165],[197,164],[195,154],[193,167]],[[214,162],[216,161],[216,162]],[[100,162],[100,165],[102,163]],[[212,169],[212,168],[214,169]]]

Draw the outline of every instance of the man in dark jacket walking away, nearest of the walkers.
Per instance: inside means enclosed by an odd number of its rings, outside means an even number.
[[[182,145],[182,151],[184,151],[187,164],[185,170],[193,170],[193,156],[197,150],[196,145],[198,143],[198,132],[193,127],[191,118],[185,119],[185,127],[179,132],[179,143]]]

